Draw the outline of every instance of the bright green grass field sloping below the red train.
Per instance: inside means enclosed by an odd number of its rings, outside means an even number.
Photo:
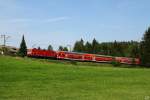
[[[150,69],[0,56],[0,100],[150,100]]]

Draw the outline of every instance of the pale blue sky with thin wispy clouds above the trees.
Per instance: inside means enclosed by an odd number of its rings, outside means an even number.
[[[150,0],[0,0],[0,35],[19,47],[55,50],[81,38],[99,42],[140,41],[150,26]],[[0,45],[3,43],[0,38]]]

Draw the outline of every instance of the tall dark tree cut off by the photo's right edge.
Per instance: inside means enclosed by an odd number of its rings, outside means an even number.
[[[141,64],[150,67],[150,27],[146,30],[140,44]]]

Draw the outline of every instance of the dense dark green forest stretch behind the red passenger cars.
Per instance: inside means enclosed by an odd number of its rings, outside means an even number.
[[[76,41],[74,44],[75,52],[86,52],[101,55],[122,56],[122,57],[139,57],[139,44],[136,41],[114,41],[99,43],[95,38],[92,43],[83,39]]]

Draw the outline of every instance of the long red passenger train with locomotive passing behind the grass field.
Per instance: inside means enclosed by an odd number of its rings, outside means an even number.
[[[88,61],[101,63],[111,63],[115,61],[121,64],[134,64],[134,65],[140,64],[139,58],[115,57],[115,56],[68,52],[68,51],[40,50],[36,48],[28,49],[27,56],[40,58],[53,58],[57,60]]]

